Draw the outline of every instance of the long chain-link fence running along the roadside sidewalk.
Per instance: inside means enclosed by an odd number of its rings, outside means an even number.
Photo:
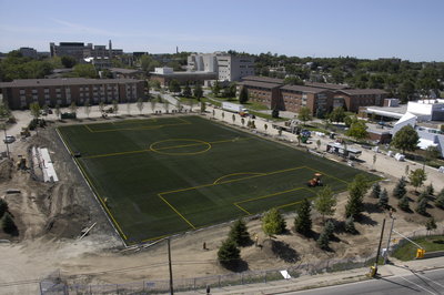
[[[444,235],[444,228],[434,231],[417,230],[407,237],[420,237],[428,235]],[[392,236],[394,237],[394,235]],[[396,240],[398,240],[396,237]],[[408,243],[407,240],[401,238],[398,243],[392,243],[389,253],[393,253],[397,247]],[[304,275],[314,275],[321,273],[341,272],[360,267],[367,267],[375,262],[375,254],[366,257],[353,257],[343,260],[326,260],[313,263],[303,263],[292,265],[285,271],[292,278],[297,278]],[[206,286],[210,288],[220,288],[234,285],[268,283],[271,281],[284,279],[279,269],[268,271],[248,271],[242,273],[232,273],[226,275],[213,275],[194,278],[178,278],[174,279],[174,291],[196,291],[203,289]],[[84,285],[84,284],[68,284],[58,272],[51,274],[40,282],[41,294],[159,294],[169,293],[169,281],[140,281],[128,284],[108,284],[108,285]]]

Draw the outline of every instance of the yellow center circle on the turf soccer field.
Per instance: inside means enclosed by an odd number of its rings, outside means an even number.
[[[195,149],[195,151],[194,151]],[[201,140],[171,139],[157,141],[150,145],[150,150],[159,154],[193,155],[202,154],[211,149],[211,144]]]

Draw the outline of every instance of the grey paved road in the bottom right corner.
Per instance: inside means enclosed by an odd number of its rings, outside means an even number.
[[[347,295],[347,294],[444,294],[444,269],[389,276],[379,279],[292,292],[297,295]]]

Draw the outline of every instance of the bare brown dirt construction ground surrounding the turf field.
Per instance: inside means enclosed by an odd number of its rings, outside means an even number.
[[[216,113],[218,118],[219,113]],[[222,118],[220,118],[222,120]],[[99,119],[90,119],[99,120]],[[122,119],[115,119],[122,120]],[[89,122],[89,120],[80,120]],[[241,120],[236,120],[240,122]],[[44,130],[26,140],[11,144],[13,160],[0,162],[0,197],[9,204],[18,232],[9,235],[0,232],[0,294],[38,294],[39,282],[58,273],[70,284],[121,284],[137,281],[167,281],[169,278],[167,243],[159,242],[149,247],[125,248],[115,233],[102,207],[60,141],[54,126],[75,122],[53,122]],[[259,125],[259,124],[258,124]],[[269,131],[270,133],[270,131]],[[59,182],[44,183],[41,170],[33,165],[31,146],[48,148]],[[19,157],[27,159],[27,170],[18,170]],[[363,155],[371,163],[371,155]],[[380,157],[375,169],[384,180],[381,182],[390,193],[390,204],[397,208],[397,200],[391,196],[400,169],[393,170],[391,160]],[[362,164],[360,169],[371,169]],[[443,189],[444,176],[428,172],[435,191]],[[432,176],[433,174],[433,176]],[[426,184],[431,181],[427,180]],[[434,181],[436,180],[436,181]],[[441,180],[441,181],[440,181]],[[412,201],[417,197],[412,186],[407,186]],[[344,206],[347,194],[337,196],[333,220],[344,221]],[[289,232],[273,238],[266,237],[261,222],[248,222],[250,234],[258,234],[259,245],[243,247],[241,257],[248,269],[285,269],[290,265],[316,262],[329,258],[366,257],[377,247],[383,218],[389,213],[375,205],[376,199],[366,196],[365,212],[356,222],[359,234],[336,232],[331,243],[331,252],[316,246],[314,238],[303,237],[293,231],[294,213],[286,215]],[[414,208],[415,204],[411,203]],[[313,231],[321,232],[321,216],[313,212]],[[431,206],[427,212],[435,217],[442,228],[444,211]],[[426,217],[417,213],[394,212],[395,228],[410,234],[424,228]],[[95,224],[90,233],[79,238],[82,230]],[[226,238],[230,224],[221,224],[206,230],[185,233],[172,237],[171,254],[174,278],[200,277],[226,274],[216,262],[216,252]],[[386,231],[387,232],[387,231]],[[203,250],[203,243],[206,250]]]

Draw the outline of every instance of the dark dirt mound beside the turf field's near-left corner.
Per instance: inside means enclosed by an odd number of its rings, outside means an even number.
[[[74,238],[90,225],[90,218],[84,212],[85,210],[78,204],[68,205],[63,207],[63,213],[58,213],[48,220],[44,232],[57,237]]]

